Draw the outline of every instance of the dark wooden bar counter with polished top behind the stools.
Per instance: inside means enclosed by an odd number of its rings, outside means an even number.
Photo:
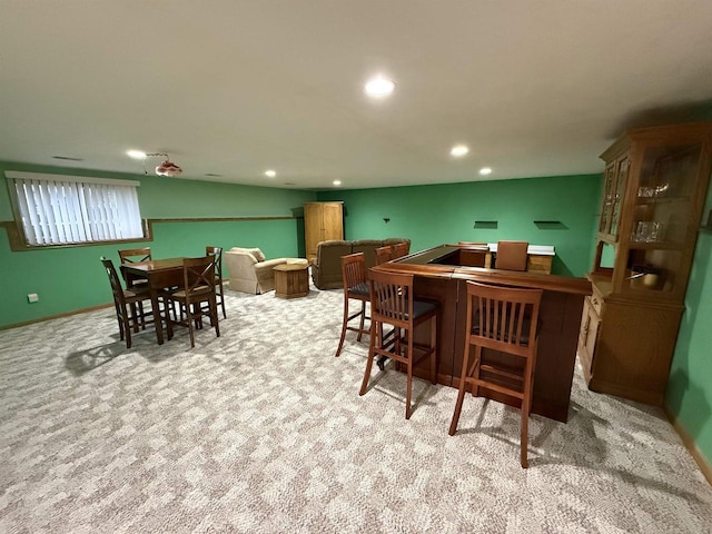
[[[534,374],[532,412],[556,421],[568,418],[568,399],[576,362],[576,346],[584,298],[591,295],[585,278],[497,270],[467,265],[467,247],[442,245],[412,254],[378,269],[415,275],[415,294],[441,304],[438,328],[438,382],[458,387],[465,348],[465,315],[467,280],[512,287],[543,289],[540,310],[540,339]],[[517,358],[486,350],[485,358],[517,364]],[[428,370],[416,369],[426,378]],[[518,400],[481,388],[481,394],[518,406]]]

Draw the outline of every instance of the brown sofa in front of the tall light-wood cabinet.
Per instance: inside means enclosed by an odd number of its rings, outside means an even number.
[[[387,239],[329,240],[316,246],[316,258],[312,261],[312,279],[319,289],[344,287],[342,278],[342,256],[364,253],[366,268],[376,265],[376,249],[397,243],[411,244],[411,239],[389,237]]]

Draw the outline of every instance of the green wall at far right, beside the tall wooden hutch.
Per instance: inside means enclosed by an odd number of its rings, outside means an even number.
[[[696,116],[712,120],[712,106]],[[703,222],[712,210],[712,187],[708,191]],[[703,230],[690,273],[685,297],[685,313],[678,334],[675,355],[665,392],[665,403],[678,422],[694,439],[695,445],[712,464],[712,230]]]

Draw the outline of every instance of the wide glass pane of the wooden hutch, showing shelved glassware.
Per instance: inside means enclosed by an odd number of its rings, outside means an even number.
[[[682,290],[676,278],[695,231],[694,201],[701,144],[647,147],[629,238],[624,291]],[[694,241],[692,241],[694,243]]]

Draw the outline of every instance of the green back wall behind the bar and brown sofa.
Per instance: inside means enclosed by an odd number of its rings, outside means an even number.
[[[318,198],[344,200],[347,239],[408,237],[412,250],[522,239],[556,247],[555,274],[583,276],[593,264],[601,187],[601,175],[586,175],[320,191]],[[496,220],[497,228],[474,228],[475,220]]]

